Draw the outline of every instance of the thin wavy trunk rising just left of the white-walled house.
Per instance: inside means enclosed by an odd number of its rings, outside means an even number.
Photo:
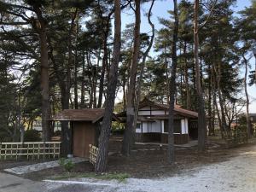
[[[137,125],[137,112],[138,112],[138,108],[139,108],[139,103],[141,101],[141,90],[142,90],[142,82],[143,82],[143,73],[144,73],[145,62],[146,62],[146,59],[148,57],[148,53],[149,53],[149,51],[150,51],[150,49],[153,45],[153,42],[154,42],[154,24],[150,20],[151,11],[152,11],[153,6],[154,6],[154,0],[152,1],[151,6],[150,6],[149,11],[148,11],[148,23],[149,23],[149,25],[151,26],[151,29],[152,29],[152,36],[150,38],[148,48],[143,53],[143,62],[141,64],[140,75],[139,75],[139,78],[137,80],[136,102],[135,102],[135,110],[134,110],[135,114],[134,114],[134,122],[133,122],[133,128],[132,128],[134,130],[136,129],[135,126]]]

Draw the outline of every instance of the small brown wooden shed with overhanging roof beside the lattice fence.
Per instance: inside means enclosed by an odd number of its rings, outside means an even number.
[[[89,144],[97,145],[104,112],[103,108],[65,109],[52,118],[54,121],[70,122],[74,156],[89,157]],[[113,120],[119,121],[115,114]]]

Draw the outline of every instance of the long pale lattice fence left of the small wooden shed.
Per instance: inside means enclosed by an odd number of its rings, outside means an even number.
[[[61,142],[0,143],[0,160],[59,158]]]

